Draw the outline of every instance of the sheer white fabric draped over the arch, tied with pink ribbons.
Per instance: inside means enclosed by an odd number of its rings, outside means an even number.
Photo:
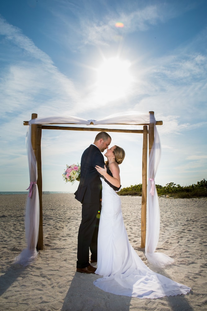
[[[25,233],[27,248],[15,258],[16,263],[27,266],[37,257],[36,245],[38,241],[39,228],[39,194],[37,187],[37,162],[31,144],[31,124],[84,124],[89,125],[91,122],[94,125],[98,124],[145,124],[156,123],[154,114],[140,114],[137,111],[127,111],[118,114],[110,115],[100,120],[85,120],[73,116],[45,117],[35,118],[29,121],[28,132],[26,137],[26,146],[29,163],[30,186],[25,210]],[[149,159],[149,178],[147,187],[147,227],[146,227],[146,258],[152,263],[155,263],[154,255],[156,256],[156,264],[163,266],[163,257],[166,255],[154,253],[160,233],[160,215],[157,192],[154,184],[154,178],[157,167],[160,161],[160,141],[155,126],[155,142]],[[153,187],[151,187],[151,184]],[[152,189],[152,190],[151,190]],[[152,191],[154,189],[154,195]],[[167,256],[168,257],[168,256]],[[168,257],[169,258],[169,257]],[[169,258],[171,259],[171,258]],[[169,261],[168,259],[168,261]],[[166,262],[166,260],[165,260]],[[172,262],[172,259],[171,259]],[[169,263],[169,262],[168,262]],[[166,264],[166,263],[165,263]]]

